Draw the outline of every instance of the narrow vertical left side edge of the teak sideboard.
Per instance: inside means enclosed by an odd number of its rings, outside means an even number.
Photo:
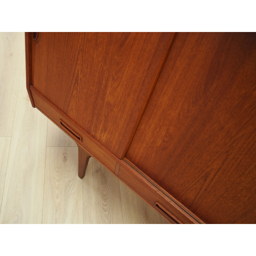
[[[25,32],[25,57],[26,57],[26,87],[28,96],[32,107],[35,108],[35,104],[30,92],[31,85],[31,32]]]

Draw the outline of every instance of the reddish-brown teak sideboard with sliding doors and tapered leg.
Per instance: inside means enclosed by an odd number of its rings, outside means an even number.
[[[171,223],[256,223],[256,33],[26,32],[32,106]]]

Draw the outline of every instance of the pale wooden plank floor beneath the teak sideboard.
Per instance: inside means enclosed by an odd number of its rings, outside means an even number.
[[[24,33],[0,33],[0,223],[156,223],[159,213],[32,108]]]

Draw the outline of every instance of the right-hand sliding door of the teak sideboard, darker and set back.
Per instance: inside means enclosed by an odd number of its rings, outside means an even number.
[[[256,223],[256,34],[178,33],[126,157],[205,222]]]

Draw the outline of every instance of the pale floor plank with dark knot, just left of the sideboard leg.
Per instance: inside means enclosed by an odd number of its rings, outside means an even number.
[[[47,147],[42,223],[83,223],[82,181],[76,147]]]

